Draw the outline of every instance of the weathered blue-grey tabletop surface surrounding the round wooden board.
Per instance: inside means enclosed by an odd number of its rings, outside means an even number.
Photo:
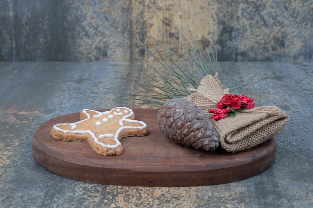
[[[225,65],[219,62],[218,71]],[[0,208],[313,207],[313,62],[228,63],[225,82],[261,79],[239,92],[290,116],[275,137],[274,164],[252,178],[203,187],[108,186],[66,179],[36,163],[31,139],[40,124],[84,108],[125,105],[120,96],[137,91],[124,85],[144,78],[141,68],[137,62],[0,62]]]

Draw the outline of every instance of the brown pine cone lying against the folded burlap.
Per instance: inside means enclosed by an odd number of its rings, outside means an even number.
[[[219,146],[211,121],[193,102],[184,98],[174,98],[162,105],[157,121],[162,133],[176,144],[205,151]]]

